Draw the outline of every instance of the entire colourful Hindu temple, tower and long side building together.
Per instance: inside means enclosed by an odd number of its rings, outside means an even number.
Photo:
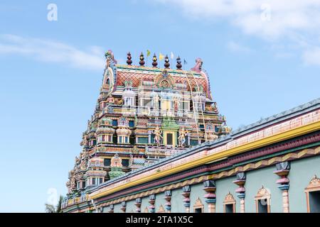
[[[320,212],[320,99],[231,131],[201,58],[105,57],[64,212]]]

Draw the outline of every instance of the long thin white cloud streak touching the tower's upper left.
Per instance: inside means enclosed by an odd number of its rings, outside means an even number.
[[[44,62],[58,62],[87,70],[104,67],[103,50],[92,46],[79,50],[65,43],[18,35],[0,35],[0,55],[18,54]]]

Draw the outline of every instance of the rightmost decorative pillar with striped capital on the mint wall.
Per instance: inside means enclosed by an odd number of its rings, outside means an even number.
[[[290,162],[279,162],[277,170],[274,174],[278,175],[280,179],[277,180],[278,188],[282,190],[282,207],[283,213],[289,213],[289,175]]]

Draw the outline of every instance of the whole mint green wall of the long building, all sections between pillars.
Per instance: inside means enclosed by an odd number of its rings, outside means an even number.
[[[247,180],[245,182],[245,212],[255,213],[255,195],[262,185],[270,190],[271,193],[271,207],[272,213],[282,213],[282,191],[277,187],[277,179],[279,177],[273,172],[276,170],[275,165],[270,167],[264,167],[258,170],[251,170],[247,172]],[[295,160],[291,162],[291,170],[289,172],[290,188],[289,188],[289,206],[290,212],[306,212],[306,194],[304,193],[305,187],[309,184],[310,180],[314,175],[320,176],[320,156],[308,157],[302,160]],[[235,211],[240,211],[240,199],[235,195],[235,189],[238,188],[233,183],[235,176],[227,177],[223,179],[215,180],[216,186],[216,212],[223,212],[223,201],[225,196],[230,192],[235,198]],[[172,213],[183,213],[186,211],[183,206],[182,188],[172,190],[171,196],[171,212]],[[190,211],[193,212],[193,205],[196,199],[200,198],[204,205],[204,212],[208,212],[208,205],[203,198],[206,192],[203,190],[203,184],[191,185],[191,205]],[[164,192],[156,194],[156,212],[159,211],[159,206],[162,205],[165,208]],[[134,205],[135,200],[127,202],[127,212],[132,210],[135,212],[136,206]],[[146,207],[149,207],[149,196],[142,198],[141,210],[144,212]],[[122,212],[121,204],[114,205],[114,212]],[[109,207],[105,207],[103,212],[110,211]]]

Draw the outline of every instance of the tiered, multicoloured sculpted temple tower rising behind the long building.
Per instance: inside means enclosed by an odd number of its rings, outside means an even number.
[[[127,65],[117,65],[111,50],[105,57],[97,106],[69,172],[68,198],[85,196],[109,179],[230,132],[200,58],[185,71],[180,57],[176,70],[168,57],[162,69],[156,55],[153,67],[144,66],[143,54],[139,66],[132,65],[130,53]]]

